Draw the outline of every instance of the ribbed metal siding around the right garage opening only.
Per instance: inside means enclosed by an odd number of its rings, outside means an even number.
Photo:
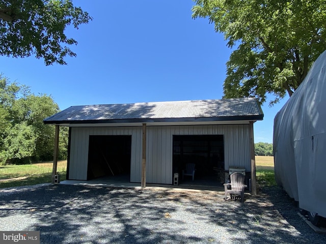
[[[146,181],[172,184],[173,135],[224,135],[225,170],[251,171],[249,125],[147,127]]]

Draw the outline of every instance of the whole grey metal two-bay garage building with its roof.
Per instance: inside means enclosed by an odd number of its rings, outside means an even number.
[[[262,119],[257,100],[242,98],[72,106],[44,123],[56,125],[57,139],[69,127],[67,179],[127,174],[171,185],[195,163],[196,178],[244,168],[254,187],[253,123]]]

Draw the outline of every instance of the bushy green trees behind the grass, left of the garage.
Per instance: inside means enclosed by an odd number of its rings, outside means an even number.
[[[0,76],[0,164],[51,160],[55,128],[43,119],[59,111],[47,95],[31,94],[28,87]],[[60,155],[67,157],[67,129],[61,130]]]

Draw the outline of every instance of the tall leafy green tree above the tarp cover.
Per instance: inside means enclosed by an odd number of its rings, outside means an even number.
[[[326,49],[323,0],[196,0],[193,18],[208,17],[229,47],[224,98],[256,97],[270,105],[291,96]]]

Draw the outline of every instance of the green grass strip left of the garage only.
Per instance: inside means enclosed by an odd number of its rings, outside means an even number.
[[[51,182],[52,162],[0,166],[0,188],[20,187]],[[59,161],[57,171],[65,179],[67,161]]]

